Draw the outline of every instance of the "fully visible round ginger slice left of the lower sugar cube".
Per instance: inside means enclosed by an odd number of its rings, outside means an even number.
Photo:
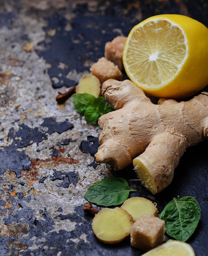
[[[130,235],[133,220],[122,208],[104,208],[100,210],[92,222],[95,236],[103,243],[119,243]]]

